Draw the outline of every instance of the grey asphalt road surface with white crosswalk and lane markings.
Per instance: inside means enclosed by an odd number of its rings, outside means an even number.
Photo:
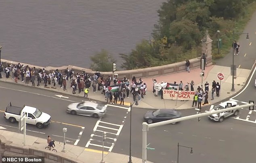
[[[82,101],[82,98],[69,97],[61,99],[54,92],[22,87],[19,85],[0,83],[0,110],[12,101],[13,105],[23,104],[34,106],[52,116],[50,126],[38,129],[27,125],[27,134],[46,138],[51,135],[54,140],[63,141],[62,128],[67,128],[67,140],[69,144],[101,150],[102,131],[107,132],[105,151],[129,153],[129,116],[127,108],[107,107],[107,114],[102,119],[94,119],[84,116],[72,116],[65,112],[69,103]],[[239,102],[240,103],[240,102]],[[243,104],[243,103],[241,103]],[[208,110],[205,107],[204,110]],[[0,112],[0,117],[3,112]],[[143,114],[147,109],[132,110],[132,156],[141,157],[142,149],[142,122]],[[196,110],[182,110],[183,116],[195,114]],[[246,114],[248,109],[241,109],[241,114]],[[256,115],[251,118],[256,119]],[[190,163],[240,163],[253,162],[252,152],[256,142],[252,141],[256,132],[254,123],[244,122],[236,118],[229,118],[222,123],[211,122],[207,118],[201,118],[200,122],[189,120],[175,125],[165,125],[149,129],[149,147],[155,151],[148,151],[148,160],[155,163],[170,163],[177,159],[177,143],[193,147],[193,155],[189,149],[180,148],[180,162]],[[11,124],[4,118],[0,118],[0,126],[6,130],[18,132],[18,124]]]

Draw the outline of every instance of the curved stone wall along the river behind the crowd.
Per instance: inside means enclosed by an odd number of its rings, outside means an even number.
[[[200,58],[193,58],[189,61],[190,61],[190,69],[200,67]],[[86,72],[88,74],[95,73],[95,71],[92,71],[91,69],[82,68],[78,66],[68,65],[68,66],[61,66],[61,67],[50,67],[50,66],[41,67],[41,66],[31,65],[28,63],[14,62],[14,61],[2,59],[3,66],[7,66],[9,64],[18,64],[18,63],[24,64],[25,66],[28,65],[30,67],[36,67],[41,69],[44,68],[46,71],[59,69],[62,72],[64,72],[64,70],[68,67],[69,69],[73,70],[75,74],[77,72],[79,73]],[[207,56],[207,63],[208,63],[207,65],[212,64],[212,56]],[[141,68],[136,70],[116,71],[115,74],[118,74],[119,78],[126,77],[128,79],[131,79],[133,76],[135,76],[136,78],[146,78],[146,77],[160,76],[164,74],[172,74],[172,73],[185,71],[185,70],[186,70],[186,66],[184,61],[184,62],[178,62],[174,64],[167,64],[163,66],[156,66],[156,67],[149,67],[149,68]],[[101,72],[101,74],[104,76],[108,76],[108,75],[112,75],[112,72]]]

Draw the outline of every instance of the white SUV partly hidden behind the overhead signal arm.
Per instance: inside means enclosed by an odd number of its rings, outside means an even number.
[[[229,100],[229,101],[222,102],[217,106],[214,106],[212,109],[214,109],[214,110],[225,109],[228,106],[228,104],[231,105],[231,107],[238,106],[237,102]],[[210,109],[209,111],[211,111],[212,109]],[[222,113],[211,114],[210,116],[208,116],[208,118],[210,118],[211,120],[214,120],[214,121],[222,122],[224,120],[224,118],[227,118],[229,116],[237,116],[238,113],[239,113],[239,110],[234,109],[231,111],[224,111]]]

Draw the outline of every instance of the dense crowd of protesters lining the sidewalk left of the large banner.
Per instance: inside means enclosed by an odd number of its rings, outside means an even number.
[[[6,67],[0,66],[0,72],[3,72],[6,78],[12,78],[16,83],[18,80],[25,82],[25,84],[31,83],[32,87],[44,87],[63,88],[63,91],[67,90],[67,87],[72,89],[72,93],[83,93],[84,97],[88,97],[90,88],[92,87],[93,93],[101,91],[105,96],[105,99],[109,103],[117,103],[118,99],[120,105],[124,105],[124,99],[133,97],[133,101],[141,101],[144,98],[147,91],[146,83],[143,83],[141,78],[137,80],[135,76],[132,78],[132,82],[124,77],[122,80],[118,80],[115,76],[112,80],[111,76],[102,76],[100,72],[96,72],[92,75],[82,72],[74,74],[72,70],[66,68],[62,70],[50,70],[47,72],[44,68],[36,69],[35,67],[29,67],[21,65],[10,64]],[[67,86],[67,81],[70,80],[70,85]],[[58,86],[59,85],[59,86]],[[118,86],[115,91],[109,90],[109,87]]]

